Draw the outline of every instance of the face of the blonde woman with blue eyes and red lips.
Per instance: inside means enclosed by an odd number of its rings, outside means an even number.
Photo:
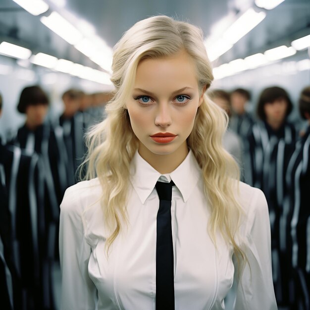
[[[186,52],[142,60],[126,103],[139,154],[186,152],[198,107],[203,102],[195,64]],[[185,154],[185,156],[186,156]]]

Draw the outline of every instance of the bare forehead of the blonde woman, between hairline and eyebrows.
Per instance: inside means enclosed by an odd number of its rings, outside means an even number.
[[[186,52],[145,58],[138,64],[134,88],[169,92],[183,87],[198,89],[196,66]]]

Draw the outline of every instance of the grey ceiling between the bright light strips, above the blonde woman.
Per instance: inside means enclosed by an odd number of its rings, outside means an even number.
[[[52,0],[46,2],[50,10],[62,14],[65,9],[93,25],[96,33],[113,47],[135,22],[155,14],[187,20],[201,27],[208,36],[217,21],[229,12],[237,13],[247,5],[253,5],[254,0],[66,0],[64,8],[57,7]],[[310,34],[310,0],[285,0],[267,11],[266,18],[217,63],[282,43],[290,44],[303,34]],[[85,55],[43,25],[39,16],[31,15],[12,0],[0,0],[0,39],[19,43],[34,53],[46,52],[97,68]]]

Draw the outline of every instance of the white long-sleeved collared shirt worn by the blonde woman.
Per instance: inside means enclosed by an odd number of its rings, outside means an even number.
[[[166,175],[167,176],[167,175]],[[224,309],[233,283],[233,249],[217,235],[217,251],[208,232],[210,211],[202,171],[190,151],[168,175],[161,176],[138,152],[131,163],[129,225],[106,257],[108,237],[100,206],[98,179],[67,189],[60,212],[62,310],[155,310],[156,181],[173,180],[172,238],[176,310]],[[276,310],[271,275],[270,225],[262,192],[240,183],[246,220],[239,245],[248,257],[237,288],[236,310]]]

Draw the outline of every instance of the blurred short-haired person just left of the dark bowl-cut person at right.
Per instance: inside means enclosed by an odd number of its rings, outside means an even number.
[[[248,136],[254,124],[253,117],[249,111],[247,111],[247,106],[250,100],[250,92],[243,88],[237,88],[230,94],[232,107],[230,128],[241,138],[246,138]]]

